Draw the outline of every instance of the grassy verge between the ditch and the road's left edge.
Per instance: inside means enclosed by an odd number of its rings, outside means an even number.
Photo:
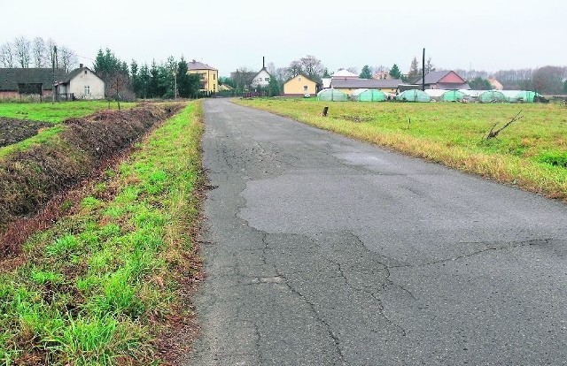
[[[198,271],[200,119],[190,103],[0,262],[1,364],[159,364]]]

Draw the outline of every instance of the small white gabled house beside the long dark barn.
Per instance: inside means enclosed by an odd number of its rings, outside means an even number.
[[[58,94],[67,100],[104,99],[105,81],[81,64],[67,74],[66,80],[58,83]]]

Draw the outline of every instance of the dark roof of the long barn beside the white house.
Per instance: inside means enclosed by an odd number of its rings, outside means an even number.
[[[57,69],[55,80],[65,80],[65,70]],[[0,91],[16,91],[18,84],[43,84],[43,90],[51,90],[53,88],[53,69],[0,68]]]

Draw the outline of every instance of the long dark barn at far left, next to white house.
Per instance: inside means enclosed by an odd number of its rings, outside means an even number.
[[[53,86],[65,80],[66,73],[51,68],[0,68],[0,99],[15,99],[21,95],[51,96]]]

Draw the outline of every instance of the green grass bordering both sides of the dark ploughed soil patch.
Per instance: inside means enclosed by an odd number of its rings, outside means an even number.
[[[120,103],[124,109],[133,108],[136,103]],[[108,102],[63,102],[63,103],[0,103],[0,117],[42,121],[52,124],[52,127],[43,128],[39,133],[9,146],[0,148],[0,158],[15,151],[27,149],[35,143],[45,143],[51,137],[60,133],[63,127],[61,122],[67,118],[79,118],[93,114],[97,111],[107,110]],[[110,103],[110,109],[117,109],[117,103]],[[0,126],[2,133],[8,133]]]

